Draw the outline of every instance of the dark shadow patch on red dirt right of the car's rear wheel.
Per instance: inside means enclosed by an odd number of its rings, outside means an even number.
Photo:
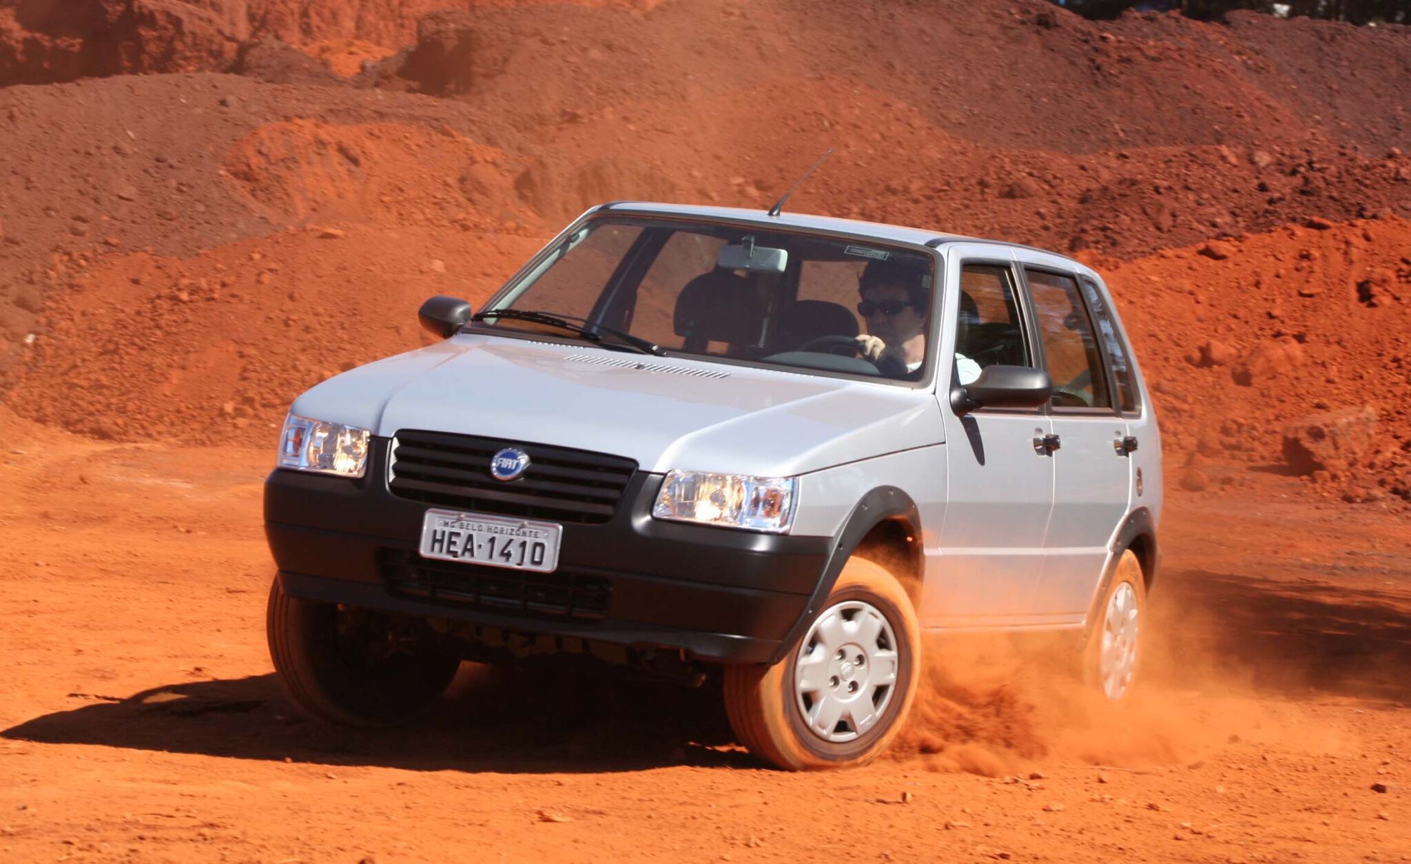
[[[1173,569],[1151,594],[1173,683],[1221,683],[1292,697],[1343,696],[1411,704],[1411,594],[1359,587],[1400,568],[1336,582]]]

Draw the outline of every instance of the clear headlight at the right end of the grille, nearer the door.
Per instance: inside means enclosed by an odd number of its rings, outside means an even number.
[[[794,477],[667,472],[652,505],[659,520],[785,534],[793,524]]]

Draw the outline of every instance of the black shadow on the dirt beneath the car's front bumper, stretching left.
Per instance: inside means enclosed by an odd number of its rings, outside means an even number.
[[[71,697],[87,704],[27,720],[0,738],[409,771],[758,767],[729,744],[718,688],[608,673],[515,678],[466,664],[426,719],[371,731],[303,720],[274,675]]]

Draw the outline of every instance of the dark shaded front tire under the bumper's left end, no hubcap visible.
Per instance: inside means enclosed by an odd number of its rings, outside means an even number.
[[[381,728],[412,720],[446,692],[460,658],[429,631],[365,610],[299,600],[270,587],[270,656],[285,693],[312,720]]]

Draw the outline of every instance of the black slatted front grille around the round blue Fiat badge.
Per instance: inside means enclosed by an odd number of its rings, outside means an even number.
[[[529,455],[523,476],[490,476],[507,446]],[[605,522],[617,511],[636,463],[621,456],[526,445],[497,438],[402,429],[392,440],[388,487],[394,496],[555,522]]]

